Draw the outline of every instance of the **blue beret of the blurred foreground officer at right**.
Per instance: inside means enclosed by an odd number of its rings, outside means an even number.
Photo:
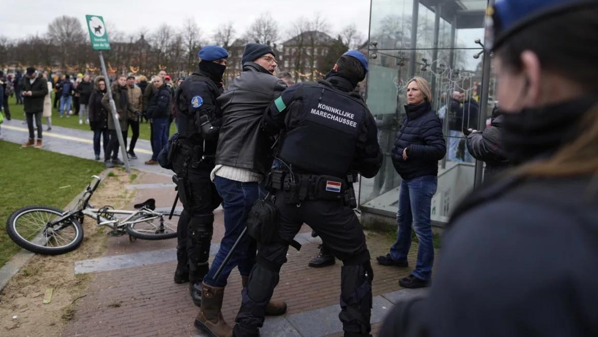
[[[486,36],[489,38],[487,48],[498,48],[514,33],[550,15],[597,4],[596,0],[497,0],[486,13],[489,20],[486,25]]]

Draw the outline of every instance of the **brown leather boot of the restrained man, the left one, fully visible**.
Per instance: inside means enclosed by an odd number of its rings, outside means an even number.
[[[195,327],[205,330],[216,337],[230,337],[233,329],[222,317],[222,299],[224,287],[210,287],[202,283],[202,307],[197,313]]]

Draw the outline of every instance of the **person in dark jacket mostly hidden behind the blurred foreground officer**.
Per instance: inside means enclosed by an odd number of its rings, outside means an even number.
[[[492,110],[490,127],[484,131],[475,129],[467,136],[467,150],[477,160],[486,163],[484,180],[508,167],[509,160],[502,144],[504,115],[498,107]]]

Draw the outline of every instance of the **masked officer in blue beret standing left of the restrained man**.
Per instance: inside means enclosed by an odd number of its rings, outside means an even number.
[[[218,143],[219,107],[222,75],[228,52],[209,45],[199,51],[199,71],[182,82],[175,103],[179,113],[178,140],[173,142],[173,171],[183,212],[178,224],[175,283],[189,283],[193,303],[200,306],[202,281],[208,273],[212,240],[213,210],[222,199],[210,181]]]

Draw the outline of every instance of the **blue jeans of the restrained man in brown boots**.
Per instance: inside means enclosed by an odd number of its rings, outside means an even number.
[[[234,267],[239,266],[239,274],[242,276],[249,276],[251,268],[254,267],[257,245],[251,236],[245,234],[239,245],[237,245],[237,248],[235,248],[231,259],[222,268],[222,273],[218,277],[218,280],[213,279],[224,258],[230,252],[230,249],[243,229],[245,229],[245,221],[247,220],[249,211],[251,211],[255,200],[263,195],[263,191],[259,183],[242,183],[218,177],[217,175],[214,179],[214,184],[216,185],[218,194],[222,197],[224,237],[222,237],[220,249],[218,249],[218,253],[216,253],[214,261],[210,266],[210,271],[204,277],[203,282],[213,287],[224,287],[227,285],[228,275],[233,271]]]

